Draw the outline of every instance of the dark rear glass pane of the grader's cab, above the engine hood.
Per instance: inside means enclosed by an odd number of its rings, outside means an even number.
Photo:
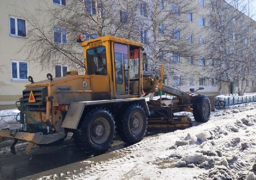
[[[90,48],[86,51],[87,74],[107,75],[105,46]]]

